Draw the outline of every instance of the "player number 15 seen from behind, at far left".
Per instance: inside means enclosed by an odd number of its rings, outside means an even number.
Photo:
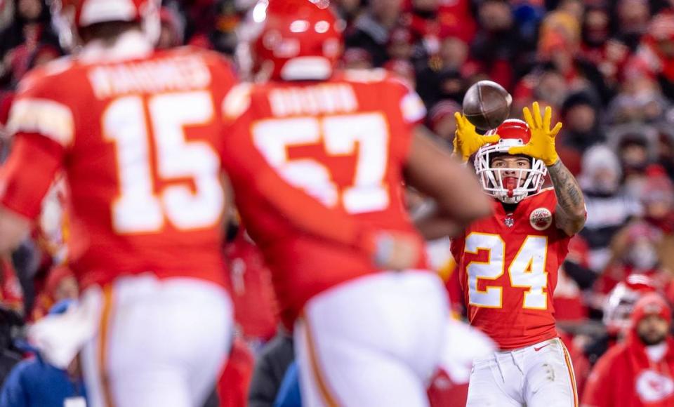
[[[42,320],[30,336],[61,368],[84,347],[91,406],[200,406],[232,338],[220,253],[221,108],[234,77],[215,53],[153,51],[158,3],[56,2],[64,42],[81,48],[20,84],[0,176],[0,253],[27,236],[55,174],[67,176],[80,306]],[[251,186],[269,186],[271,206],[282,180],[259,174]],[[297,225],[308,214],[331,215],[303,192],[282,198],[296,203],[284,217],[299,212]],[[350,241],[370,264],[414,259],[397,251],[409,244],[395,236],[381,244],[375,232],[333,216],[337,227],[314,230]]]

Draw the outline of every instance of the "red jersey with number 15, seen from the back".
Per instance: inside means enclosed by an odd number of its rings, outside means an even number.
[[[70,267],[83,288],[144,272],[225,285],[221,106],[232,69],[216,53],[128,41],[22,81],[0,203],[37,218],[63,170]]]

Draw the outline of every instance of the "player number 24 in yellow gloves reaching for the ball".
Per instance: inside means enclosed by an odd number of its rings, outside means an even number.
[[[550,107],[524,108],[478,135],[456,114],[455,152],[475,156],[494,215],[473,222],[451,243],[468,319],[498,345],[473,365],[468,406],[577,406],[574,372],[555,330],[557,269],[586,212],[581,189],[555,151]],[[498,134],[499,137],[496,136]],[[546,175],[553,188],[541,189]]]

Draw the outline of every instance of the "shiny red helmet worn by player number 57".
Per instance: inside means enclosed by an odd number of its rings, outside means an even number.
[[[251,18],[252,69],[266,76],[261,79],[331,76],[343,48],[344,22],[327,7],[327,1],[260,0]]]

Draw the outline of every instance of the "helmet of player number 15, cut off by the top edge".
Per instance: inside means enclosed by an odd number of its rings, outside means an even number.
[[[159,38],[160,0],[53,0],[54,23],[65,48],[79,42],[79,29],[99,22],[137,21],[154,43]]]

